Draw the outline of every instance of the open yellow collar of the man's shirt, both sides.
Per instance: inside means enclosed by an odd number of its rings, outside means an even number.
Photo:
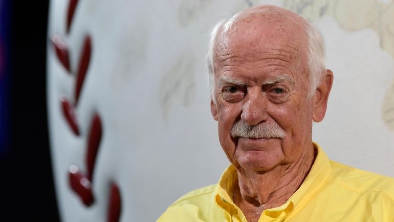
[[[313,145],[317,150],[317,156],[308,176],[304,179],[300,188],[298,188],[298,190],[285,204],[276,208],[266,209],[262,212],[263,214],[269,217],[278,217],[288,215],[292,212],[296,213],[308,203],[316,191],[322,188],[325,180],[331,174],[331,164],[329,158],[321,149],[321,147],[314,142]],[[232,199],[232,194],[237,183],[238,175],[236,169],[234,166],[230,165],[223,172],[216,187],[216,204],[225,209],[230,214],[233,214],[234,210],[238,211],[238,214],[240,212],[239,208],[235,206]]]

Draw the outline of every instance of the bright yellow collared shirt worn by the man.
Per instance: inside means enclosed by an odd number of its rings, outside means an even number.
[[[394,178],[330,161],[314,145],[318,154],[300,188],[282,206],[264,210],[258,222],[394,222]],[[157,222],[247,222],[232,200],[237,181],[230,165],[217,185],[182,196]]]

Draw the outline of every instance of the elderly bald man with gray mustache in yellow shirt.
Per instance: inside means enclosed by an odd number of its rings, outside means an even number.
[[[316,28],[279,7],[247,9],[212,30],[208,66],[231,165],[158,221],[394,221],[394,179],[332,162],[312,142],[333,83]]]

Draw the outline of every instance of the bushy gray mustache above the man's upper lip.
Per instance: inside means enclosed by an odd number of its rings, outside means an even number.
[[[239,120],[231,129],[232,137],[247,137],[253,139],[284,138],[284,130],[277,123],[261,123],[248,125],[244,120]]]

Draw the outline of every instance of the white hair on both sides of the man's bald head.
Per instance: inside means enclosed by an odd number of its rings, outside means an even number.
[[[209,32],[208,53],[206,56],[208,65],[208,82],[211,99],[216,104],[215,94],[215,69],[214,69],[214,53],[217,41],[217,34],[223,29],[227,23],[226,19],[222,19],[216,23]],[[305,20],[305,32],[308,36],[308,67],[309,67],[309,93],[308,98],[312,98],[316,89],[320,85],[325,73],[325,49],[323,36],[319,29]]]

